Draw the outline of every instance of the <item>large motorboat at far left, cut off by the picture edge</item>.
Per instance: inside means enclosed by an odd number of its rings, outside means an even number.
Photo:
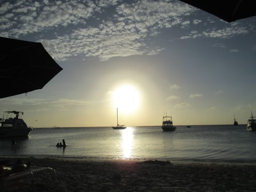
[[[14,114],[15,117],[5,118],[6,114]],[[22,111],[4,111],[3,118],[0,118],[0,138],[3,137],[28,137],[33,130],[19,116],[23,115]]]

